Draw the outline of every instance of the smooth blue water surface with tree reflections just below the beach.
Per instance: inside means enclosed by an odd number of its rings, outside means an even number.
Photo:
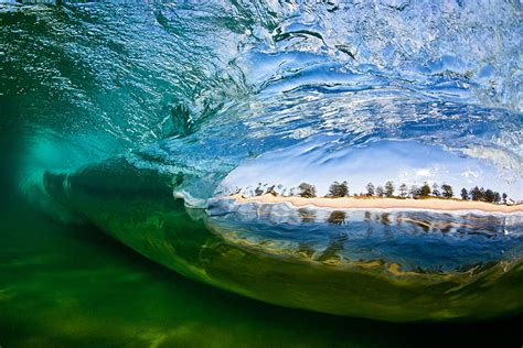
[[[350,238],[339,250],[341,261],[384,260],[403,270],[445,272],[522,257],[521,214],[295,209],[286,204],[238,205],[230,199],[213,202],[207,213],[220,231],[253,243],[292,253],[307,242],[312,259],[321,258],[340,233]]]

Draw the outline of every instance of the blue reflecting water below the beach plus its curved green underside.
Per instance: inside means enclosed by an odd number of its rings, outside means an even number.
[[[282,204],[213,199],[207,210],[189,209],[172,199],[168,178],[115,159],[66,176],[47,173],[44,186],[146,257],[267,303],[394,322],[521,311],[517,218],[307,208],[314,220],[303,222],[305,210]],[[442,233],[428,222],[445,219],[459,227]],[[473,225],[492,221],[509,232]]]

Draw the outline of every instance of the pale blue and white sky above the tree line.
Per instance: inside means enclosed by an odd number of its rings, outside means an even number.
[[[523,198],[521,175],[499,168],[492,161],[416,141],[382,140],[350,146],[335,135],[313,137],[248,160],[227,175],[222,187],[254,188],[259,182],[292,187],[308,182],[324,195],[333,181],[348,181],[353,194],[364,192],[369,182],[377,186],[389,180],[396,188],[402,183],[436,182],[450,184],[456,196],[461,187],[478,185]]]

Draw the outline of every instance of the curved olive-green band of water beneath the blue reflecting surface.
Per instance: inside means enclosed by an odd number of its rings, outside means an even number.
[[[182,199],[173,199],[171,185],[179,181],[183,178],[137,170],[122,159],[68,175],[43,175],[43,186],[53,198],[47,210],[53,203],[67,207],[180,274],[266,303],[388,322],[521,313],[519,260],[447,272],[405,272],[401,264],[395,269],[382,259],[340,260],[335,244],[316,258],[307,243],[293,251],[275,247],[271,240],[238,238],[236,229],[242,227],[221,229],[204,210],[185,208]],[[417,240],[425,239],[418,236]],[[458,254],[456,247],[439,258]]]

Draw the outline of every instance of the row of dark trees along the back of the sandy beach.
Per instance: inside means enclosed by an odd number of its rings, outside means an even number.
[[[271,194],[274,196],[280,195],[288,195],[288,196],[300,196],[305,198],[313,198],[317,197],[317,189],[316,186],[309,183],[301,183],[298,185],[297,188],[290,188],[288,192],[287,189],[282,189],[282,185],[271,185],[268,186],[267,184],[262,185],[258,184],[258,187],[255,189],[255,195],[260,196],[263,194]],[[237,189],[239,193],[239,189]],[[329,192],[325,197],[349,197],[350,189],[349,184],[346,181],[343,182],[333,182],[329,186]],[[396,186],[392,181],[385,183],[385,185],[374,186],[373,183],[369,183],[365,186],[365,192],[360,194],[354,194],[355,197],[389,197],[389,198],[428,198],[428,197],[438,197],[438,198],[453,198],[455,192],[452,186],[449,184],[444,183],[441,186],[437,183],[429,185],[425,182],[421,186],[412,185],[408,187],[405,183],[399,185],[396,192]],[[478,202],[487,202],[487,203],[495,203],[495,204],[506,204],[508,203],[508,195],[505,193],[500,194],[499,192],[494,192],[490,188],[483,188],[474,186],[470,189],[461,188],[460,197],[462,200],[478,200]]]

